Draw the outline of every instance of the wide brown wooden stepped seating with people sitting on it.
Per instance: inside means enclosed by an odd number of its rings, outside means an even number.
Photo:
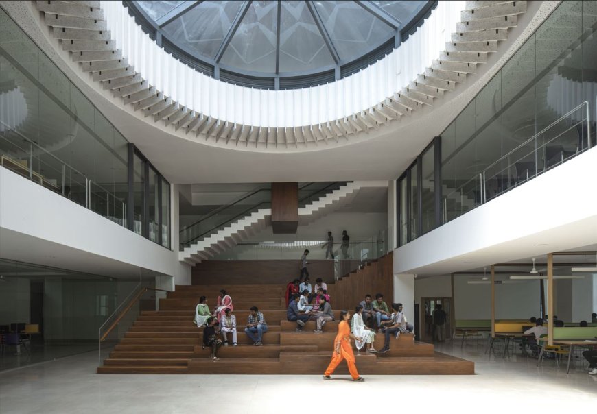
[[[194,308],[201,295],[210,308],[220,289],[233,298],[237,319],[238,346],[222,346],[220,361],[211,361],[202,348],[202,328],[193,322]],[[309,321],[303,332],[286,320],[284,287],[280,285],[177,286],[161,299],[158,311],[142,311],[120,343],[97,368],[98,374],[322,374],[329,364],[338,321],[315,333]],[[333,305],[333,297],[331,301]],[[268,332],[264,345],[253,346],[244,333],[248,309],[257,306],[264,313]],[[336,319],[340,310],[335,310]],[[229,341],[231,337],[229,335]],[[383,346],[377,334],[375,347]],[[356,351],[355,351],[356,354]],[[357,355],[360,374],[474,374],[474,364],[434,351],[429,343],[414,341],[412,334],[392,338],[386,354]],[[340,365],[336,374],[348,374]]]

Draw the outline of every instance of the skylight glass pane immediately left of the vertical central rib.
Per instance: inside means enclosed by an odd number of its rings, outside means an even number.
[[[220,63],[243,71],[276,71],[277,1],[253,1]]]

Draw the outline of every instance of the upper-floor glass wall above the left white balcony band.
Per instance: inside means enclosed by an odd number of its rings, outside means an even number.
[[[0,165],[170,247],[169,183],[2,9]]]

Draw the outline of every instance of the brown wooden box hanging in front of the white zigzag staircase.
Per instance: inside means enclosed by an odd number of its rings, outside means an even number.
[[[272,183],[272,230],[296,233],[299,227],[299,183]]]

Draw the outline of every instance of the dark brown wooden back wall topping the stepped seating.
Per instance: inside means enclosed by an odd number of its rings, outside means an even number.
[[[301,274],[301,260],[205,260],[193,267],[192,284],[280,284]],[[311,283],[333,282],[333,260],[309,260]]]

